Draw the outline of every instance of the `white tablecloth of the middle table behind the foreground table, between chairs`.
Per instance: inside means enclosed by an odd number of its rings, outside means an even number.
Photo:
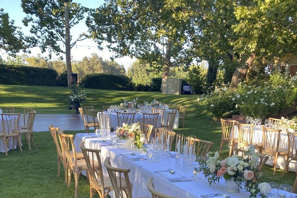
[[[172,112],[172,110],[170,109],[166,109],[163,115],[163,123],[162,124],[166,124],[167,122],[167,118],[168,118],[168,112]],[[117,128],[118,126],[118,117],[117,114],[115,112],[104,112],[104,114],[109,114],[110,116],[110,127],[114,127],[114,129]],[[99,115],[99,114],[98,114]],[[146,118],[148,119],[148,118]],[[135,114],[134,117],[134,123],[143,123],[143,114]],[[147,122],[146,122],[147,123]],[[157,120],[157,124],[156,124],[156,128],[159,128],[161,126],[161,115],[159,115],[158,120]],[[179,127],[179,112],[177,111],[175,114],[175,118],[174,118],[174,124],[173,124],[173,128],[178,128]]]

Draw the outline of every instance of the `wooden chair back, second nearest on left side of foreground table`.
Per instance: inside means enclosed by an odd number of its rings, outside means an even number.
[[[122,178],[126,182],[125,187],[125,194],[126,197],[131,198],[132,197],[132,188],[131,188],[131,183],[129,179],[128,173],[130,172],[130,169],[125,169],[125,168],[116,168],[111,166],[110,164],[110,157],[106,157],[104,160],[104,166],[107,169],[112,187],[114,189],[114,194],[115,198],[124,198],[125,196],[123,195],[122,189],[124,188],[123,183],[122,183]],[[123,175],[123,177],[122,177]],[[118,176],[118,178],[117,178]]]

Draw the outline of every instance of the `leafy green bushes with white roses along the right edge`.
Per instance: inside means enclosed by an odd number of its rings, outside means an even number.
[[[296,110],[297,79],[273,74],[268,81],[240,83],[235,90],[223,85],[202,98],[214,120],[239,112],[260,118],[285,116]]]

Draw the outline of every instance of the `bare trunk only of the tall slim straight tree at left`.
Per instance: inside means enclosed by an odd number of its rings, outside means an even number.
[[[67,82],[68,87],[71,87],[71,47],[70,47],[70,25],[69,25],[69,7],[68,2],[64,1],[64,11],[65,11],[65,55],[66,55],[66,67],[67,67]]]

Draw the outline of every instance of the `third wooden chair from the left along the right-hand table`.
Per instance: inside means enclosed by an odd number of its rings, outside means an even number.
[[[264,151],[263,154],[269,153],[273,156],[273,175],[276,171],[276,165],[279,156],[285,156],[286,161],[288,160],[288,150],[279,148],[279,138],[281,136],[281,131],[278,129],[270,129],[262,126],[263,129],[263,139],[264,139]],[[276,145],[276,146],[275,146]]]

